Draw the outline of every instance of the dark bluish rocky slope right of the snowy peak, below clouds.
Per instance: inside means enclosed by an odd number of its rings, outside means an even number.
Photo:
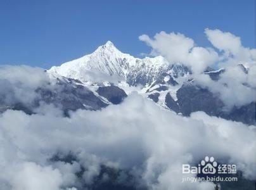
[[[169,100],[170,103],[173,101]],[[184,116],[189,116],[195,111],[205,111],[208,115],[226,118],[244,124],[255,124],[255,105],[250,103],[241,107],[234,106],[231,110],[224,109],[224,103],[219,99],[218,94],[213,94],[208,89],[191,83],[182,85],[177,91],[177,104]],[[176,110],[174,110],[176,111]],[[177,112],[177,111],[176,111]]]

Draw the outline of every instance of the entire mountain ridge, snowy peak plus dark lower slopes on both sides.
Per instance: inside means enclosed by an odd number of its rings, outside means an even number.
[[[217,81],[224,72],[225,69],[208,68],[204,74]],[[0,111],[23,110],[33,114],[43,103],[61,108],[68,116],[69,111],[101,110],[122,103],[136,91],[160,108],[185,117],[195,111],[204,111],[211,116],[255,124],[255,102],[225,111],[219,95],[198,85],[186,66],[170,65],[161,56],[134,58],[118,51],[112,42],[82,58],[53,66],[44,73],[49,82],[35,89],[35,99],[27,104],[0,101]]]

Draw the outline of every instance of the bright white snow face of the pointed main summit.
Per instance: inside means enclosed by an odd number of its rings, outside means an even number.
[[[85,79],[84,72],[88,70],[125,77],[125,70],[128,70],[127,62],[134,64],[135,61],[134,57],[121,53],[108,41],[104,46],[99,46],[94,53],[63,63],[61,66],[53,66],[49,72],[80,80]]]

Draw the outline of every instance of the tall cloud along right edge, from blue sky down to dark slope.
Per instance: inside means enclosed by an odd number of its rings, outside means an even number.
[[[229,108],[256,101],[256,49],[243,47],[240,37],[229,32],[207,28],[205,34],[212,45],[223,52],[224,60],[219,66],[224,67],[226,72],[222,73],[221,79],[214,85],[212,82],[206,84],[203,80],[199,82],[205,83],[211,91],[219,93]],[[237,66],[238,64],[246,66],[248,74],[241,66]]]

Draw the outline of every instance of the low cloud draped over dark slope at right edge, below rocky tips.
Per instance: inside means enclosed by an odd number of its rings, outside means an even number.
[[[211,80],[208,75],[196,75],[195,83],[217,94],[225,103],[224,109],[229,111],[233,106],[240,107],[256,101],[254,67],[246,74],[241,66],[229,66],[218,81]]]

